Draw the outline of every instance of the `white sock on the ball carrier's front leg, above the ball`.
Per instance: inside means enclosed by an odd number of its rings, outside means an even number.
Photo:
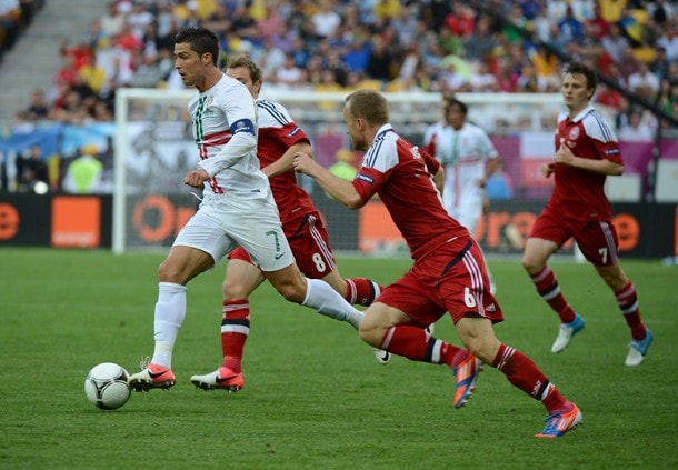
[[[172,349],[185,318],[186,286],[160,282],[156,303],[156,332],[153,336],[156,348],[151,359],[152,363],[167,368],[172,367]]]

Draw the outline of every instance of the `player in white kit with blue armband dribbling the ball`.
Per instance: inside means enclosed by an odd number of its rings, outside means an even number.
[[[356,329],[362,318],[328,283],[305,278],[297,267],[259,169],[255,100],[247,87],[218,69],[218,38],[205,28],[183,28],[175,38],[175,68],[185,84],[198,90],[188,108],[200,162],[183,182],[202,188],[203,200],[160,264],[153,356],[130,377],[134,391],[176,383],[172,349],[186,317],[186,284],[239,246],[287,300]]]

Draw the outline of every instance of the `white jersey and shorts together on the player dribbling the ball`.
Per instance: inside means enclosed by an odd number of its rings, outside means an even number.
[[[249,90],[228,76],[188,104],[200,168],[211,177],[203,200],[175,239],[217,263],[240,246],[263,271],[295,262],[268,178],[257,158],[257,113]]]

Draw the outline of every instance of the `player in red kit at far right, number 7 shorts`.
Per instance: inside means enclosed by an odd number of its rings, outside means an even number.
[[[556,274],[546,263],[574,238],[615,293],[631,332],[626,366],[638,366],[652,342],[652,332],[642,323],[636,288],[619,262],[619,240],[604,187],[608,174],[621,174],[624,162],[617,137],[589,104],[597,81],[596,72],[581,62],[571,62],[565,69],[561,88],[568,111],[558,119],[556,158],[541,169],[546,178],[554,174],[556,187],[532,227],[522,266],[537,292],[560,317],[551,347],[552,352],[560,352],[584,329],[584,319],[565,300]]]

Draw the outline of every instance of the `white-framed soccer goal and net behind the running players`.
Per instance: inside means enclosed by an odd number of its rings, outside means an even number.
[[[198,152],[187,103],[193,90],[122,88],[116,97],[113,191],[113,252],[169,247],[195,213],[198,199],[182,184],[195,169]],[[316,159],[325,167],[350,151],[342,120],[347,93],[263,90],[262,98],[281,102],[311,139]],[[385,93],[390,121],[415,144],[429,126],[441,119],[439,93]],[[469,106],[469,120],[492,138],[512,180],[512,196],[492,201],[477,239],[488,253],[519,252],[522,238],[550,192],[538,176],[552,158],[552,132],[561,110],[559,94],[459,93]],[[336,251],[396,256],[407,253],[385,208],[370,201],[350,211],[330,199],[315,182],[299,176],[322,213]]]

